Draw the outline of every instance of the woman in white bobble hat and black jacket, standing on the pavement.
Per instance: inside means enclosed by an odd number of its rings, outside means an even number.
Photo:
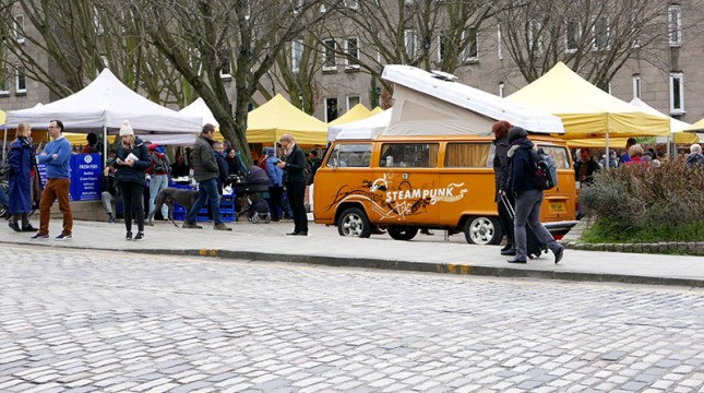
[[[120,143],[112,166],[117,168],[117,183],[124,209],[126,239],[132,240],[132,214],[136,216],[134,240],[144,240],[144,171],[152,165],[150,152],[128,120],[120,128]]]

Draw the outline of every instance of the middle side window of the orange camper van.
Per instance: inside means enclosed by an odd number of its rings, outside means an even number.
[[[380,167],[434,168],[438,166],[438,143],[384,143]]]

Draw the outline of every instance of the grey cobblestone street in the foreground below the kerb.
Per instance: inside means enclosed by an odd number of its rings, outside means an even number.
[[[704,290],[3,246],[0,392],[701,392]]]

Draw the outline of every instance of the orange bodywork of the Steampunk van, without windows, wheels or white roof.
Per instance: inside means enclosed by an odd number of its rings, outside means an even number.
[[[566,164],[558,167],[558,187],[545,191],[540,219],[544,223],[575,219],[575,181],[564,142],[532,135],[538,146],[564,151]],[[498,217],[494,174],[490,155],[482,167],[445,167],[448,143],[491,143],[491,136],[408,136],[336,141],[330,146],[314,181],[315,223],[336,225],[342,210],[361,207],[372,225],[408,225],[462,229],[469,216]],[[384,144],[438,144],[434,167],[384,167]],[[332,165],[336,145],[371,145],[369,166]],[[342,148],[342,147],[341,147]],[[491,150],[493,152],[493,150]],[[329,164],[330,162],[330,164]],[[565,168],[566,167],[566,168]]]

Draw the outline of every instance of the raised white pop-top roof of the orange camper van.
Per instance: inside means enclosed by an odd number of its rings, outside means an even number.
[[[394,111],[384,135],[488,135],[497,120],[536,133],[564,133],[559,117],[454,82],[456,78],[444,72],[386,66],[381,78],[395,84]]]

